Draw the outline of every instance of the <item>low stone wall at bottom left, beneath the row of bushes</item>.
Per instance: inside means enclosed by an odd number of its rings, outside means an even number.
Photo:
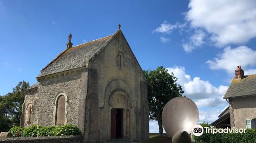
[[[70,136],[42,136],[42,137],[13,137],[0,139],[0,143],[80,143],[82,137],[80,135]]]

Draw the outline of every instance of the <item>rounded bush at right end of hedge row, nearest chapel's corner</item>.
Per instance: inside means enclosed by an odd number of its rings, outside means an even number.
[[[78,135],[79,129],[77,126],[67,124],[54,129],[55,135]]]

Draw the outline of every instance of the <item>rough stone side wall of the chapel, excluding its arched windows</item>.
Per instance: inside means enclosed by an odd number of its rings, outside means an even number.
[[[29,103],[33,104],[32,122],[24,123],[24,126],[39,124],[43,126],[55,125],[55,106],[54,101],[59,92],[66,93],[67,123],[78,124],[78,99],[81,93],[81,69],[76,71],[66,71],[38,79],[39,85],[37,92],[26,94],[25,109]],[[23,109],[24,110],[24,109]],[[23,118],[26,121],[26,111]],[[24,122],[24,121],[23,121]]]

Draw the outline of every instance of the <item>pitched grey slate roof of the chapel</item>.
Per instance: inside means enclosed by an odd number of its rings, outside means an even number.
[[[66,49],[43,68],[38,77],[85,66],[86,61],[89,60],[102,46],[105,46],[105,43],[109,41],[113,35]]]

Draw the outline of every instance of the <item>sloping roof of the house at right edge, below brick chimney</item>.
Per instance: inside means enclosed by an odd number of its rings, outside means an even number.
[[[256,95],[256,75],[234,78],[223,99]]]

